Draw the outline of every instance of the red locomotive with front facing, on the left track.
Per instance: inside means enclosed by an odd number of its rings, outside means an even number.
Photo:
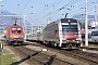
[[[7,29],[5,39],[8,44],[17,44],[24,42],[24,29],[16,24],[9,26]]]

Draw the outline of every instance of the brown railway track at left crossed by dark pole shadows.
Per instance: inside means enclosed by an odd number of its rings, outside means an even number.
[[[21,64],[24,61],[27,61],[29,65],[74,65],[66,61],[57,58],[57,55],[49,55],[42,53],[41,51],[34,51],[25,47],[10,47],[15,53],[17,53],[22,60],[19,61]],[[25,57],[25,58],[24,58]]]

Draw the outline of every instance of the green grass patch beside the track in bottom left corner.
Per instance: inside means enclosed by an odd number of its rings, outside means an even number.
[[[8,48],[4,47],[2,52],[0,52],[0,60],[1,65],[13,65],[14,62],[16,62],[15,54],[11,53],[7,50]]]

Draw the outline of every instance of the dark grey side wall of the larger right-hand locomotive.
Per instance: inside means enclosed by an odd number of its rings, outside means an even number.
[[[57,23],[51,23],[44,29],[44,41],[59,41],[59,27]]]

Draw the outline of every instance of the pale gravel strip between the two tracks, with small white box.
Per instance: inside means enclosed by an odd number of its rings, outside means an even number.
[[[74,63],[75,65],[88,65],[84,62],[81,62],[76,58],[72,58],[72,57],[69,57],[69,56],[65,56],[61,53],[57,53],[57,52],[53,52],[53,51],[50,51],[50,50],[47,50],[47,49],[42,49],[40,47],[33,47],[33,46],[26,46],[26,48],[29,48],[32,50],[36,50],[36,51],[42,51],[44,53],[48,53],[49,55],[57,55],[58,58],[62,58],[63,61],[66,61],[66,62],[70,62],[70,63]]]

